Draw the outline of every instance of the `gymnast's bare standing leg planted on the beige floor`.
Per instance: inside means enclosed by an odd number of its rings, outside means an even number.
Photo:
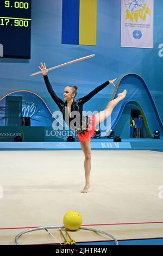
[[[85,187],[81,191],[82,193],[87,193],[90,187],[90,173],[91,173],[91,142],[80,142],[80,145],[82,147],[82,150],[85,155],[84,160],[84,170],[85,170]]]

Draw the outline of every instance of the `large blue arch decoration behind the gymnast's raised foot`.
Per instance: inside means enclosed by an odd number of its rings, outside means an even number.
[[[131,103],[140,109],[149,137],[152,137],[154,130],[160,130],[160,132],[163,132],[163,125],[158,110],[143,78],[137,74],[123,75],[117,81],[116,88],[111,97],[111,100],[114,99],[117,94],[122,92],[124,89],[127,89],[126,98],[121,101],[112,112],[112,129],[114,129],[118,123],[124,107]]]

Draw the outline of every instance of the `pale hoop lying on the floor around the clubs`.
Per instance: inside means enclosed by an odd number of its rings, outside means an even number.
[[[47,226],[47,227],[32,228],[32,229],[24,230],[21,233],[19,233],[17,236],[15,236],[15,245],[21,245],[20,243],[18,243],[18,239],[22,235],[24,235],[26,233],[37,231],[37,230],[45,230],[45,231],[47,231],[47,229],[59,229],[59,228],[65,230],[65,227],[63,225]],[[90,231],[94,231],[96,233],[101,233],[103,235],[106,235],[106,236],[110,237],[112,240],[115,241],[115,245],[118,245],[117,239],[114,236],[110,235],[109,233],[106,233],[105,231],[102,231],[102,230],[99,230],[99,229],[95,229],[95,228],[85,228],[85,227],[84,228],[79,228],[79,229],[90,230]]]

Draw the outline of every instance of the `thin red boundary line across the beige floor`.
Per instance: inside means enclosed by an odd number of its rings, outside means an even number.
[[[87,226],[103,226],[103,225],[159,224],[159,223],[163,223],[163,221],[157,221],[157,222],[131,222],[131,223],[108,223],[108,224],[85,224],[85,225],[82,225],[82,227],[87,227]],[[0,230],[9,230],[9,229],[30,229],[30,228],[40,228],[40,227],[0,228]]]

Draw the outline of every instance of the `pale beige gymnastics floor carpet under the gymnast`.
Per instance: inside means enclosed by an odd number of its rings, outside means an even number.
[[[0,152],[1,245],[12,245],[15,235],[24,230],[2,228],[62,225],[62,217],[70,210],[80,212],[83,224],[95,224],[92,228],[108,231],[117,239],[163,237],[163,223],[96,226],[163,221],[162,153],[92,151],[87,194],[80,193],[83,160],[82,151]],[[42,232],[25,235],[21,242],[52,242]],[[78,241],[104,239],[82,230],[75,236]]]

